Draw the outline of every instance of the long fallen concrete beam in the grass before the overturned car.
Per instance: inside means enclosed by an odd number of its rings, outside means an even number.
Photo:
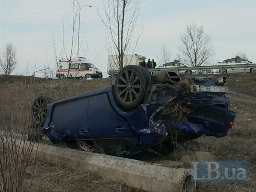
[[[16,145],[27,148],[29,141],[20,140]],[[195,186],[195,183],[190,183],[190,170],[184,168],[170,168],[41,143],[34,144],[32,155],[41,156],[54,164],[67,163],[74,169],[95,172],[108,180],[152,192],[190,190]]]

